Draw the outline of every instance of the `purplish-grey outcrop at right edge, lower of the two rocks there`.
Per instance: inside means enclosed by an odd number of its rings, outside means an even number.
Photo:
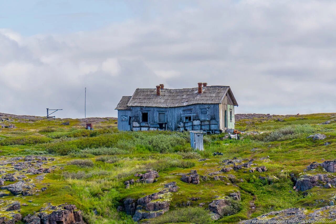
[[[295,190],[306,191],[316,186],[327,187],[336,186],[336,177],[328,174],[305,174],[300,176],[295,184]]]

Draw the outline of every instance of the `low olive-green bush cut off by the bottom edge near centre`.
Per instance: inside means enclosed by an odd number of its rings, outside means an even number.
[[[176,210],[169,211],[162,216],[159,216],[151,220],[151,224],[164,224],[164,223],[214,223],[209,212],[203,208],[198,207],[186,207],[178,208]]]

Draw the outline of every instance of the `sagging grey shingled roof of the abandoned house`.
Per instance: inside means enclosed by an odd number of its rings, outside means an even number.
[[[116,110],[129,110],[126,108],[137,107],[181,107],[193,104],[220,104],[226,93],[229,94],[235,106],[238,106],[229,86],[202,87],[202,94],[198,88],[161,89],[160,96],[156,89],[137,88],[132,97],[122,97]],[[126,102],[128,101],[128,102]]]

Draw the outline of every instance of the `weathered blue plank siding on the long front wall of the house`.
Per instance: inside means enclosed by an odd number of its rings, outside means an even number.
[[[203,113],[201,113],[201,111]],[[206,115],[204,114],[206,111]],[[148,123],[142,122],[141,113],[148,113]],[[183,107],[131,107],[131,110],[118,110],[119,130],[155,130],[158,129],[159,113],[166,113],[167,130],[180,130],[180,122],[188,125],[187,130],[219,130],[219,105],[196,104]],[[121,116],[131,116],[132,124],[122,121]],[[192,116],[192,122],[184,122],[185,116]],[[202,118],[202,119],[201,119]],[[204,119],[204,120],[203,120]]]

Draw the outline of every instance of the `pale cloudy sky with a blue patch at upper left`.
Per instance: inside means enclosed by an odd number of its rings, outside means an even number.
[[[0,112],[115,117],[136,88],[229,85],[236,113],[336,112],[336,1],[0,0]]]

